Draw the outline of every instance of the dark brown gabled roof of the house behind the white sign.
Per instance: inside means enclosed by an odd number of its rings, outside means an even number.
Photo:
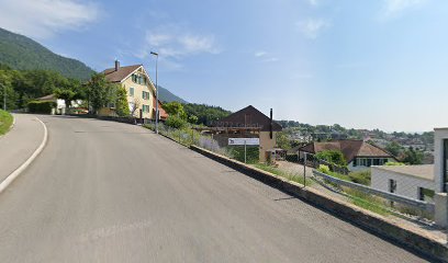
[[[249,105],[243,110],[239,110],[227,117],[216,121],[213,126],[231,126],[231,127],[260,127],[261,132],[270,130],[270,118],[262,114],[260,111]],[[282,127],[280,124],[272,121],[272,130],[280,132]]]

